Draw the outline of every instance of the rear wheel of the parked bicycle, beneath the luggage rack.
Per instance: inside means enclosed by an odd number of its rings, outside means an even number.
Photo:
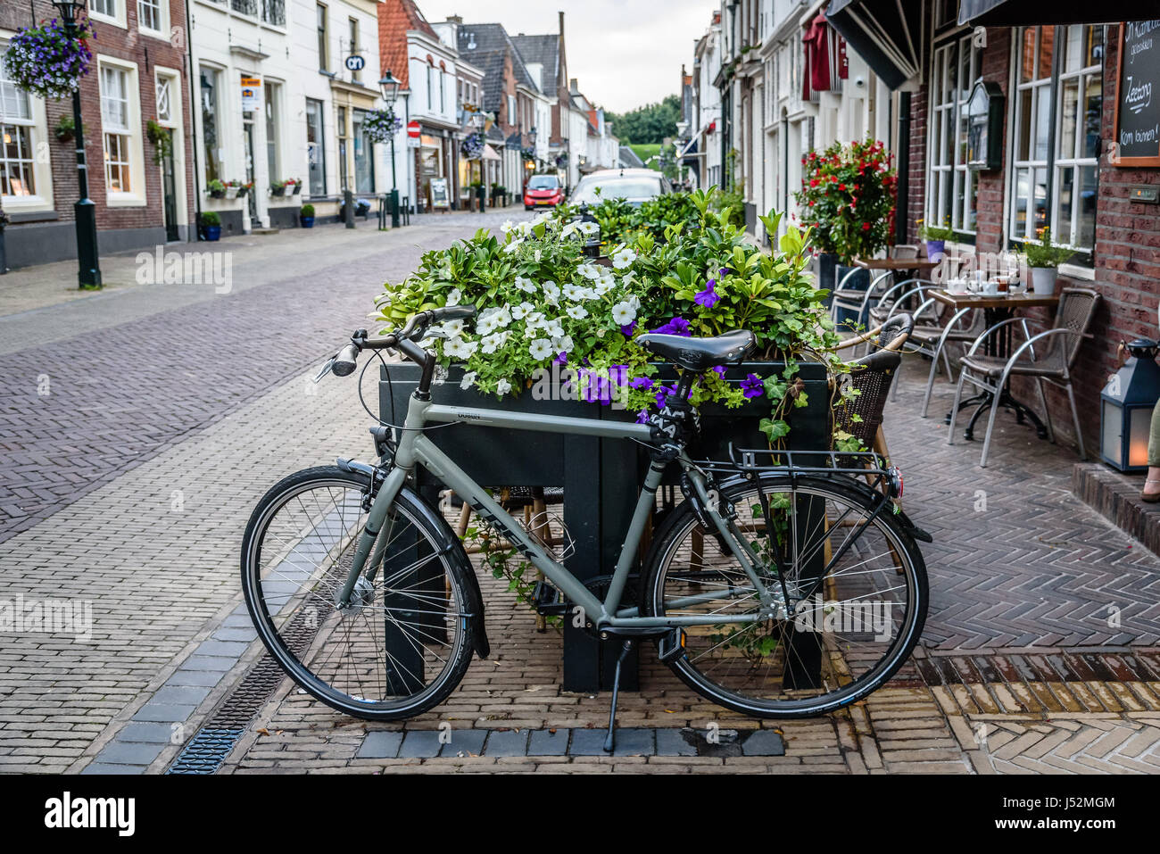
[[[926,565],[893,508],[876,513],[878,493],[827,477],[766,475],[720,492],[760,588],[726,538],[679,507],[647,559],[645,609],[705,623],[686,628],[669,667],[709,700],[764,718],[832,711],[889,680],[927,611]]]

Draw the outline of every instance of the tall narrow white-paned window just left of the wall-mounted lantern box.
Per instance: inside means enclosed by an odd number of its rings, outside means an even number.
[[[966,166],[965,108],[980,77],[979,57],[967,34],[936,48],[930,65],[926,219],[966,234],[976,232],[979,173]]]

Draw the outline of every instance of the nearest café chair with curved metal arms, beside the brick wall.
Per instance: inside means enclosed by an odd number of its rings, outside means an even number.
[[[979,335],[966,355],[959,359],[958,384],[955,386],[955,405],[950,411],[950,432],[947,436],[947,443],[955,443],[955,420],[958,415],[959,400],[963,399],[963,384],[970,383],[991,396],[991,414],[987,418],[987,433],[983,440],[983,458],[979,462],[981,468],[986,468],[987,453],[991,450],[991,434],[995,428],[995,415],[1000,408],[1003,390],[1013,376],[1023,376],[1035,381],[1039,405],[1043,407],[1044,421],[1046,421],[1047,439],[1052,442],[1056,441],[1056,435],[1043,384],[1051,383],[1067,392],[1080,459],[1086,459],[1087,453],[1083,450],[1080,417],[1075,410],[1075,395],[1072,391],[1072,368],[1083,339],[1092,338],[1088,327],[1092,325],[1099,304],[1100,294],[1090,288],[1064,288],[1060,291],[1059,307],[1056,310],[1056,319],[1051,328],[1032,335],[1028,326],[1043,326],[1041,321],[1029,317],[1013,317],[995,324]],[[1009,331],[1008,327],[1023,330],[1027,338],[1010,356],[988,356],[979,352],[992,335],[996,333],[1006,335]]]

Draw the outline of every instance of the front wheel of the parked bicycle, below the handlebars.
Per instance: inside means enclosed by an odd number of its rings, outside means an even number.
[[[394,721],[458,685],[480,603],[466,555],[448,548],[450,528],[403,490],[350,603],[338,607],[370,490],[369,477],[336,466],[275,485],[246,528],[241,584],[259,636],[299,686],[348,715]]]

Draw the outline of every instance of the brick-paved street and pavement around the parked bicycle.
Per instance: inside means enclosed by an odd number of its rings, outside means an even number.
[[[262,666],[237,569],[251,508],[290,471],[371,455],[353,378],[310,382],[321,357],[425,248],[523,216],[225,240],[229,294],[138,285],[131,255],[97,296],[67,292],[70,265],[0,278],[0,599],[93,608],[88,640],[5,636],[0,770],[160,773],[208,738]],[[1072,494],[1071,448],[1007,414],[987,469],[978,443],[948,446],[944,379],[916,414],[926,367],[907,357],[885,424],[934,535],[931,607],[914,660],[867,701],[774,726],[693,694],[650,645],[621,701],[631,732],[593,754],[608,696],[561,692],[559,635],[480,573],[492,657],[442,705],[367,724],[275,679],[219,773],[1157,773],[1160,559]],[[713,724],[735,750],[697,754]]]

